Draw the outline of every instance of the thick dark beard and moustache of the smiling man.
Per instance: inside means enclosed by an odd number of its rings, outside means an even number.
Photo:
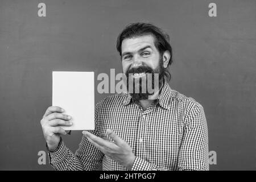
[[[129,77],[129,74],[132,75],[134,73],[146,73],[146,78],[134,78],[134,77]],[[148,75],[151,73],[150,75]],[[156,74],[158,74],[158,80],[155,82],[155,77]],[[151,69],[147,65],[142,65],[141,67],[138,68],[131,68],[129,69],[126,73],[126,88],[127,91],[130,93],[131,97],[133,97],[134,101],[139,101],[139,100],[147,100],[149,96],[154,95],[155,91],[158,92],[158,90],[155,90],[155,84],[158,84],[158,89],[160,86],[163,84],[163,78],[164,78],[164,68],[163,68],[163,59],[159,59],[159,65],[156,69]],[[136,80],[136,81],[135,81]],[[137,83],[135,85],[135,83]],[[132,88],[129,89],[129,85],[132,86]],[[146,86],[146,88],[144,88]],[[151,87],[150,87],[151,86]],[[152,88],[154,92],[150,93],[148,90],[148,87]],[[145,92],[146,91],[146,92]]]

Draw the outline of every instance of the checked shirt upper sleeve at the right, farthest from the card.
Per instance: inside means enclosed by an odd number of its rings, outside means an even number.
[[[204,109],[196,104],[184,119],[184,133],[180,146],[179,170],[209,170],[208,129]]]

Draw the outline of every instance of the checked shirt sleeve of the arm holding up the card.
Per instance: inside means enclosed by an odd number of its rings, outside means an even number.
[[[97,105],[95,110],[95,127],[96,130],[88,130],[94,135],[97,132]],[[89,140],[82,135],[82,140],[75,154],[65,146],[63,140],[60,140],[59,146],[53,152],[48,151],[49,164],[57,171],[82,171],[98,170],[102,164],[104,154],[94,147]]]

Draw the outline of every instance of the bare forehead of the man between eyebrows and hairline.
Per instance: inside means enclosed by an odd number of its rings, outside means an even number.
[[[152,35],[143,35],[135,38],[124,39],[122,41],[122,52],[137,51],[145,46],[155,47],[154,37]]]

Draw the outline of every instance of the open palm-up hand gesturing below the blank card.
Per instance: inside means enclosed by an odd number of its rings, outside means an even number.
[[[133,154],[131,147],[125,140],[119,138],[114,131],[108,129],[106,130],[106,133],[114,142],[104,140],[88,131],[82,131],[82,134],[84,134],[89,142],[98,148],[98,150],[101,150],[106,156],[109,156],[111,159],[115,160],[115,162],[130,170],[133,167],[135,160],[135,155]]]

